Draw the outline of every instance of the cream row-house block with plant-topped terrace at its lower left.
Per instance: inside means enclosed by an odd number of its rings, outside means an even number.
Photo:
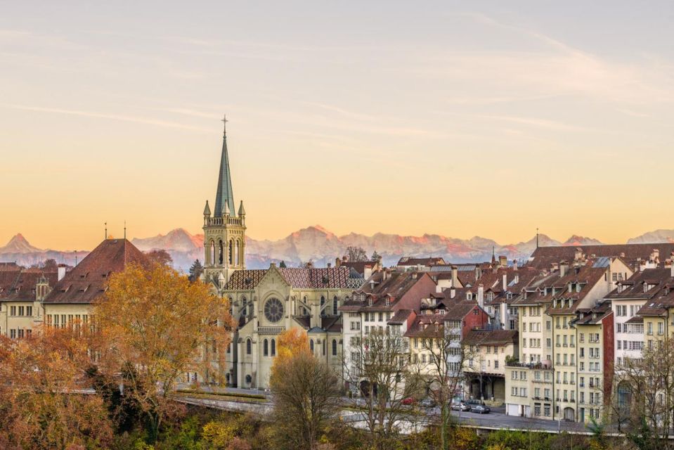
[[[585,416],[588,408],[583,406],[582,413],[578,409],[580,359],[583,371],[602,379],[602,385],[610,385],[606,382],[612,379],[614,337],[611,315],[600,311],[601,318],[595,323],[585,314],[597,311],[597,304],[614,289],[618,277],[613,274],[628,278],[633,270],[622,257],[587,257],[578,248],[573,250],[572,263],[562,259],[550,263],[550,271],[539,270],[540,276],[513,302],[519,309],[520,355],[519,361],[511,361],[506,368],[506,413],[586,420],[590,418]],[[577,323],[583,330],[595,327],[601,332],[592,333],[590,341]],[[597,333],[601,338],[595,340]],[[609,378],[604,379],[604,374]]]

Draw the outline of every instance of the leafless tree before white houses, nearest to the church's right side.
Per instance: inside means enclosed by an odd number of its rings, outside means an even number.
[[[361,387],[372,447],[389,448],[409,414],[403,400],[417,395],[422,387],[422,380],[410,370],[405,338],[375,329],[363,338],[354,338],[343,373],[345,382]]]

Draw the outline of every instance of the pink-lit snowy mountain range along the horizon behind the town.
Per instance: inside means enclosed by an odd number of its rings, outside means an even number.
[[[656,243],[674,241],[674,230],[656,230],[644,233],[628,240],[628,243]],[[174,229],[167,234],[151,238],[135,238],[131,241],[140,250],[167,250],[174,259],[176,269],[187,270],[195,259],[203,260],[204,236],[191,234],[185,229]],[[441,256],[447,262],[479,262],[491,259],[492,251],[496,255],[505,255],[508,259],[526,259],[536,249],[536,236],[515,244],[500,244],[488,238],[475,236],[470,239],[450,238],[437,234],[423,236],[400,236],[397,234],[376,233],[365,236],[349,233],[337,236],[322,226],[309,226],[295,231],[283,239],[256,240],[247,238],[247,266],[250,269],[268,267],[270,262],[285,261],[288,266],[296,266],[312,260],[318,266],[334,262],[341,257],[349,246],[365,249],[368,255],[375,250],[385,265],[394,265],[402,256],[424,257]],[[565,241],[552,239],[544,234],[538,236],[538,244],[549,245],[594,245],[601,244],[597,239],[584,236],[571,236]],[[0,247],[0,261],[15,261],[30,265],[44,259],[53,258],[57,262],[74,264],[75,257],[82,260],[86,252],[61,252],[36,248],[20,234],[14,236],[7,245]],[[202,261],[203,262],[203,261]]]

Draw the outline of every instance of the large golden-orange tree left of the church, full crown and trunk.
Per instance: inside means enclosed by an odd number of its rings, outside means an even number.
[[[148,421],[151,440],[174,408],[169,396],[176,381],[202,368],[209,354],[226,354],[233,327],[226,300],[160,264],[132,264],[113,274],[93,316],[101,370],[120,374],[125,395]]]

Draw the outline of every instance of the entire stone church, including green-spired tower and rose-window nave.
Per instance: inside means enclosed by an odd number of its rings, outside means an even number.
[[[266,389],[278,335],[306,331],[311,351],[342,371],[342,314],[339,307],[363,284],[347,266],[246,269],[243,202],[234,212],[226,131],[213,210],[204,208],[204,274],[218,295],[227,297],[237,323],[220,368],[227,385]]]

